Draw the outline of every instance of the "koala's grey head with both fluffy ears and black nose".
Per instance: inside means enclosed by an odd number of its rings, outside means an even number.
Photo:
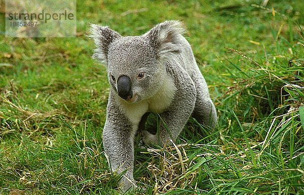
[[[184,28],[165,21],[137,37],[122,37],[107,26],[91,25],[93,58],[105,64],[108,80],[120,98],[136,103],[153,96],[167,77],[166,61],[178,53]]]

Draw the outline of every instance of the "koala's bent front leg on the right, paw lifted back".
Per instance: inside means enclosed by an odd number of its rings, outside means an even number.
[[[176,141],[195,107],[196,89],[192,79],[181,69],[171,70],[169,74],[173,76],[177,89],[175,97],[169,108],[160,114],[165,123],[161,122],[160,131],[156,135],[143,132],[143,141],[148,145],[172,145],[170,140]]]

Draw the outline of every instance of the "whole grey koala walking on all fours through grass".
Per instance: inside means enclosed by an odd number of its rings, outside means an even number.
[[[179,21],[157,24],[141,36],[123,37],[108,26],[91,24],[93,58],[107,69],[111,86],[103,128],[103,146],[112,171],[124,173],[119,188],[136,188],[134,137],[147,113],[164,123],[156,135],[142,131],[142,141],[172,144],[192,115],[213,128],[216,110]]]

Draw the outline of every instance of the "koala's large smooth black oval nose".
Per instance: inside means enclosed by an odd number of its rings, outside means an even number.
[[[131,79],[127,76],[120,76],[117,80],[117,91],[121,98],[125,100],[131,99],[133,96]]]

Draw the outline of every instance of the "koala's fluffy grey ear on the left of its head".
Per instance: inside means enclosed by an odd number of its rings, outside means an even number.
[[[108,26],[91,24],[88,37],[94,41],[96,46],[92,57],[106,65],[109,45],[115,39],[121,37],[121,35],[117,31],[110,29]]]

